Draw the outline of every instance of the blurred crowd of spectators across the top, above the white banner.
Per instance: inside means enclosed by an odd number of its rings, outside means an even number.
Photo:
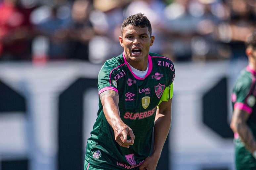
[[[139,12],[156,37],[150,51],[174,61],[245,56],[256,27],[255,0],[0,0],[0,61],[101,64],[123,51],[122,21]]]

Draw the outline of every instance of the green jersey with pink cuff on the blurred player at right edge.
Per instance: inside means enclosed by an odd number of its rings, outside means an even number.
[[[250,114],[247,125],[256,139],[256,72],[249,66],[243,69],[237,78],[231,96],[233,109],[244,110]],[[235,159],[237,169],[255,168],[256,159],[246,150],[239,135],[235,133]]]

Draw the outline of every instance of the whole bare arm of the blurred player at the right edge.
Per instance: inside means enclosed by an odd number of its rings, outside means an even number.
[[[234,133],[238,133],[241,140],[244,142],[245,147],[251,153],[256,151],[256,141],[253,137],[252,132],[246,124],[250,114],[247,112],[235,109],[231,120],[230,127]]]

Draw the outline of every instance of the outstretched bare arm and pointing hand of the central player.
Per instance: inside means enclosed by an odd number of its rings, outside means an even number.
[[[135,136],[132,129],[120,118],[118,93],[114,90],[106,90],[100,94],[100,99],[107,122],[114,130],[116,142],[122,147],[129,148],[129,145],[133,145]],[[127,140],[127,135],[130,136],[130,140]]]

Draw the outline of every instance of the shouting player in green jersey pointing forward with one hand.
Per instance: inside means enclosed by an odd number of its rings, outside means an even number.
[[[124,52],[99,73],[98,118],[87,140],[85,170],[155,170],[170,129],[172,61],[149,52],[154,36],[143,14],[127,17],[121,33]]]

